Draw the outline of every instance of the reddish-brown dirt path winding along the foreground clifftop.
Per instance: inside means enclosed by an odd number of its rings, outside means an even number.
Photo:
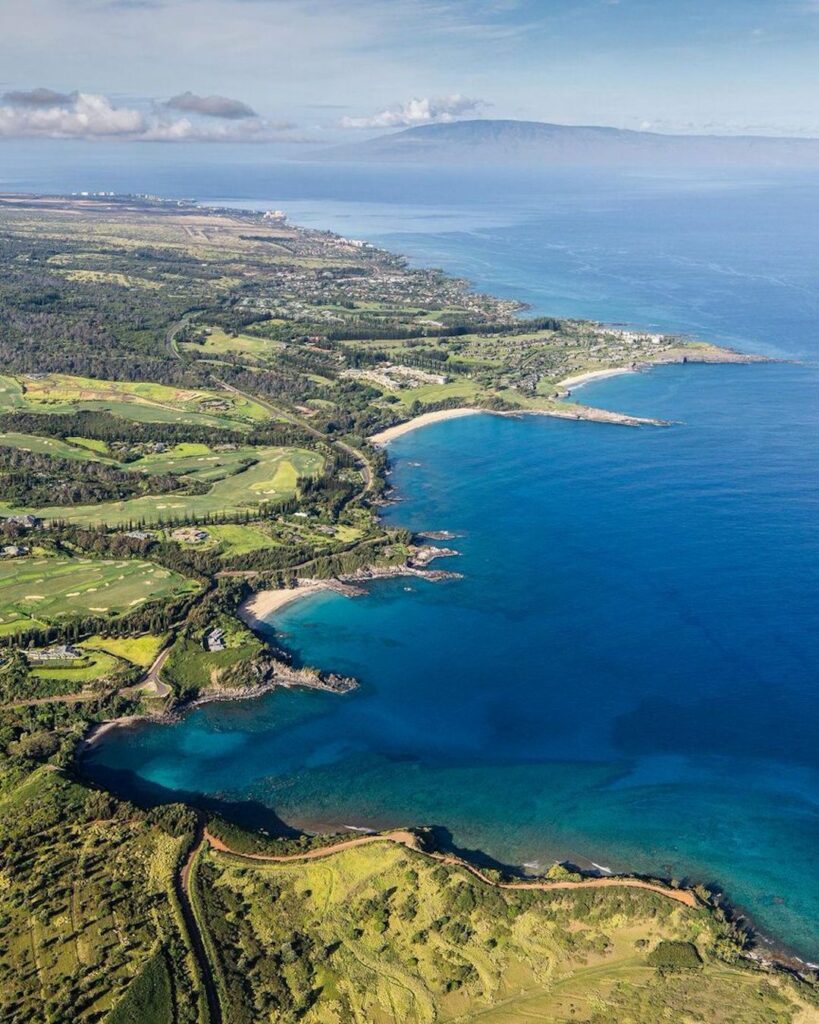
[[[667,899],[675,900],[675,902],[682,903],[684,906],[691,907],[692,909],[696,909],[699,906],[696,896],[687,889],[672,889],[670,886],[663,886],[659,882],[644,882],[642,879],[583,879],[580,882],[493,882],[480,868],[475,867],[466,860],[462,860],[460,857],[443,853],[428,853],[426,850],[422,850],[416,836],[406,829],[397,829],[377,836],[358,836],[355,839],[335,843],[333,846],[325,846],[315,850],[306,850],[304,853],[291,854],[240,853],[231,850],[226,843],[216,836],[211,835],[207,828],[204,831],[203,838],[214,850],[220,853],[230,853],[233,856],[243,857],[247,860],[266,860],[276,863],[287,863],[288,861],[295,860],[318,860],[321,857],[332,857],[336,853],[341,853],[342,850],[350,850],[353,847],[365,846],[370,843],[398,843],[416,853],[423,854],[425,857],[440,861],[442,864],[450,867],[461,867],[469,871],[470,874],[474,874],[484,885],[492,886],[495,889],[526,889],[537,892],[553,892],[558,889],[643,889],[648,892],[657,893],[659,896],[665,896]]]

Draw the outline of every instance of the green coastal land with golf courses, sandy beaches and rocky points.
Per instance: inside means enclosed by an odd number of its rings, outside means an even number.
[[[355,699],[259,627],[317,589],[455,575],[430,566],[455,554],[445,524],[379,516],[397,431],[466,412],[660,429],[571,392],[753,356],[529,317],[281,211],[4,195],[0,246],[3,1021],[816,1019],[810,973],[704,887],[524,881],[421,827],[251,831],[82,771],[105,729],[196,702]]]

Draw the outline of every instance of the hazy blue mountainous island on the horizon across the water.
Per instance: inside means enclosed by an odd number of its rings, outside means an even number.
[[[548,167],[819,166],[819,139],[762,135],[666,135],[599,125],[475,119],[419,125],[326,150],[361,163]]]

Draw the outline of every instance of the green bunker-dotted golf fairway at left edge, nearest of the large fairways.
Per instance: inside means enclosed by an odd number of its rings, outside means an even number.
[[[176,572],[137,559],[16,558],[0,562],[0,634],[74,615],[114,617],[145,601],[198,589]]]

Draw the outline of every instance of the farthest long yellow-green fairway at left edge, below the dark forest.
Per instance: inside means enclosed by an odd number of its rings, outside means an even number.
[[[247,429],[270,419],[258,402],[227,391],[188,390],[164,384],[98,381],[67,374],[0,377],[0,413],[27,410],[76,413],[107,410],[129,420],[191,423]]]

